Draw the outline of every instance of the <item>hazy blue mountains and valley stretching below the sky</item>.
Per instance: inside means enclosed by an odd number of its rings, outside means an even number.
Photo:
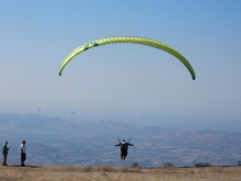
[[[19,146],[27,140],[31,165],[111,165],[142,167],[236,165],[241,160],[241,133],[179,131],[160,126],[140,127],[122,122],[70,122],[38,114],[0,113],[0,137],[9,139],[9,161],[19,162]],[[119,159],[119,139],[135,144],[126,161]],[[59,157],[56,157],[58,155]]]

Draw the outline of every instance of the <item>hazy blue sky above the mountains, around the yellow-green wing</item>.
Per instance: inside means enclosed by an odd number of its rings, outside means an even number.
[[[41,114],[85,120],[241,122],[240,8],[239,0],[1,1],[0,112],[39,113],[42,104]],[[72,49],[117,35],[174,47],[196,80],[171,55],[129,44],[90,49],[58,76]]]

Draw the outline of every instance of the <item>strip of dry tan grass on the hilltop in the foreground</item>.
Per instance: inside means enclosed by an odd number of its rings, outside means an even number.
[[[153,168],[139,167],[115,168],[99,167],[0,167],[1,181],[240,181],[241,167],[204,168]]]

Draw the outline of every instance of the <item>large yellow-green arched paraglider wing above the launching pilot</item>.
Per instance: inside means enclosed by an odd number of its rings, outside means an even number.
[[[78,48],[76,48],[74,50],[72,50],[67,57],[66,59],[62,61],[62,64],[59,67],[59,76],[61,76],[61,72],[64,70],[64,68],[66,67],[66,65],[77,55],[83,53],[84,50],[88,50],[90,48],[93,48],[95,46],[101,46],[101,45],[106,45],[106,44],[118,44],[118,43],[131,43],[131,44],[141,44],[141,45],[147,45],[147,46],[151,46],[158,49],[162,49],[173,56],[175,56],[181,63],[183,63],[183,65],[188,69],[193,80],[195,80],[196,75],[195,71],[193,69],[193,67],[191,66],[191,64],[187,61],[187,59],[180,54],[177,50],[175,50],[174,48],[154,41],[154,39],[150,39],[150,38],[145,38],[145,37],[138,37],[138,36],[113,36],[113,37],[106,37],[106,38],[101,38],[101,39],[96,39],[90,43],[87,43],[84,45],[79,46]]]

